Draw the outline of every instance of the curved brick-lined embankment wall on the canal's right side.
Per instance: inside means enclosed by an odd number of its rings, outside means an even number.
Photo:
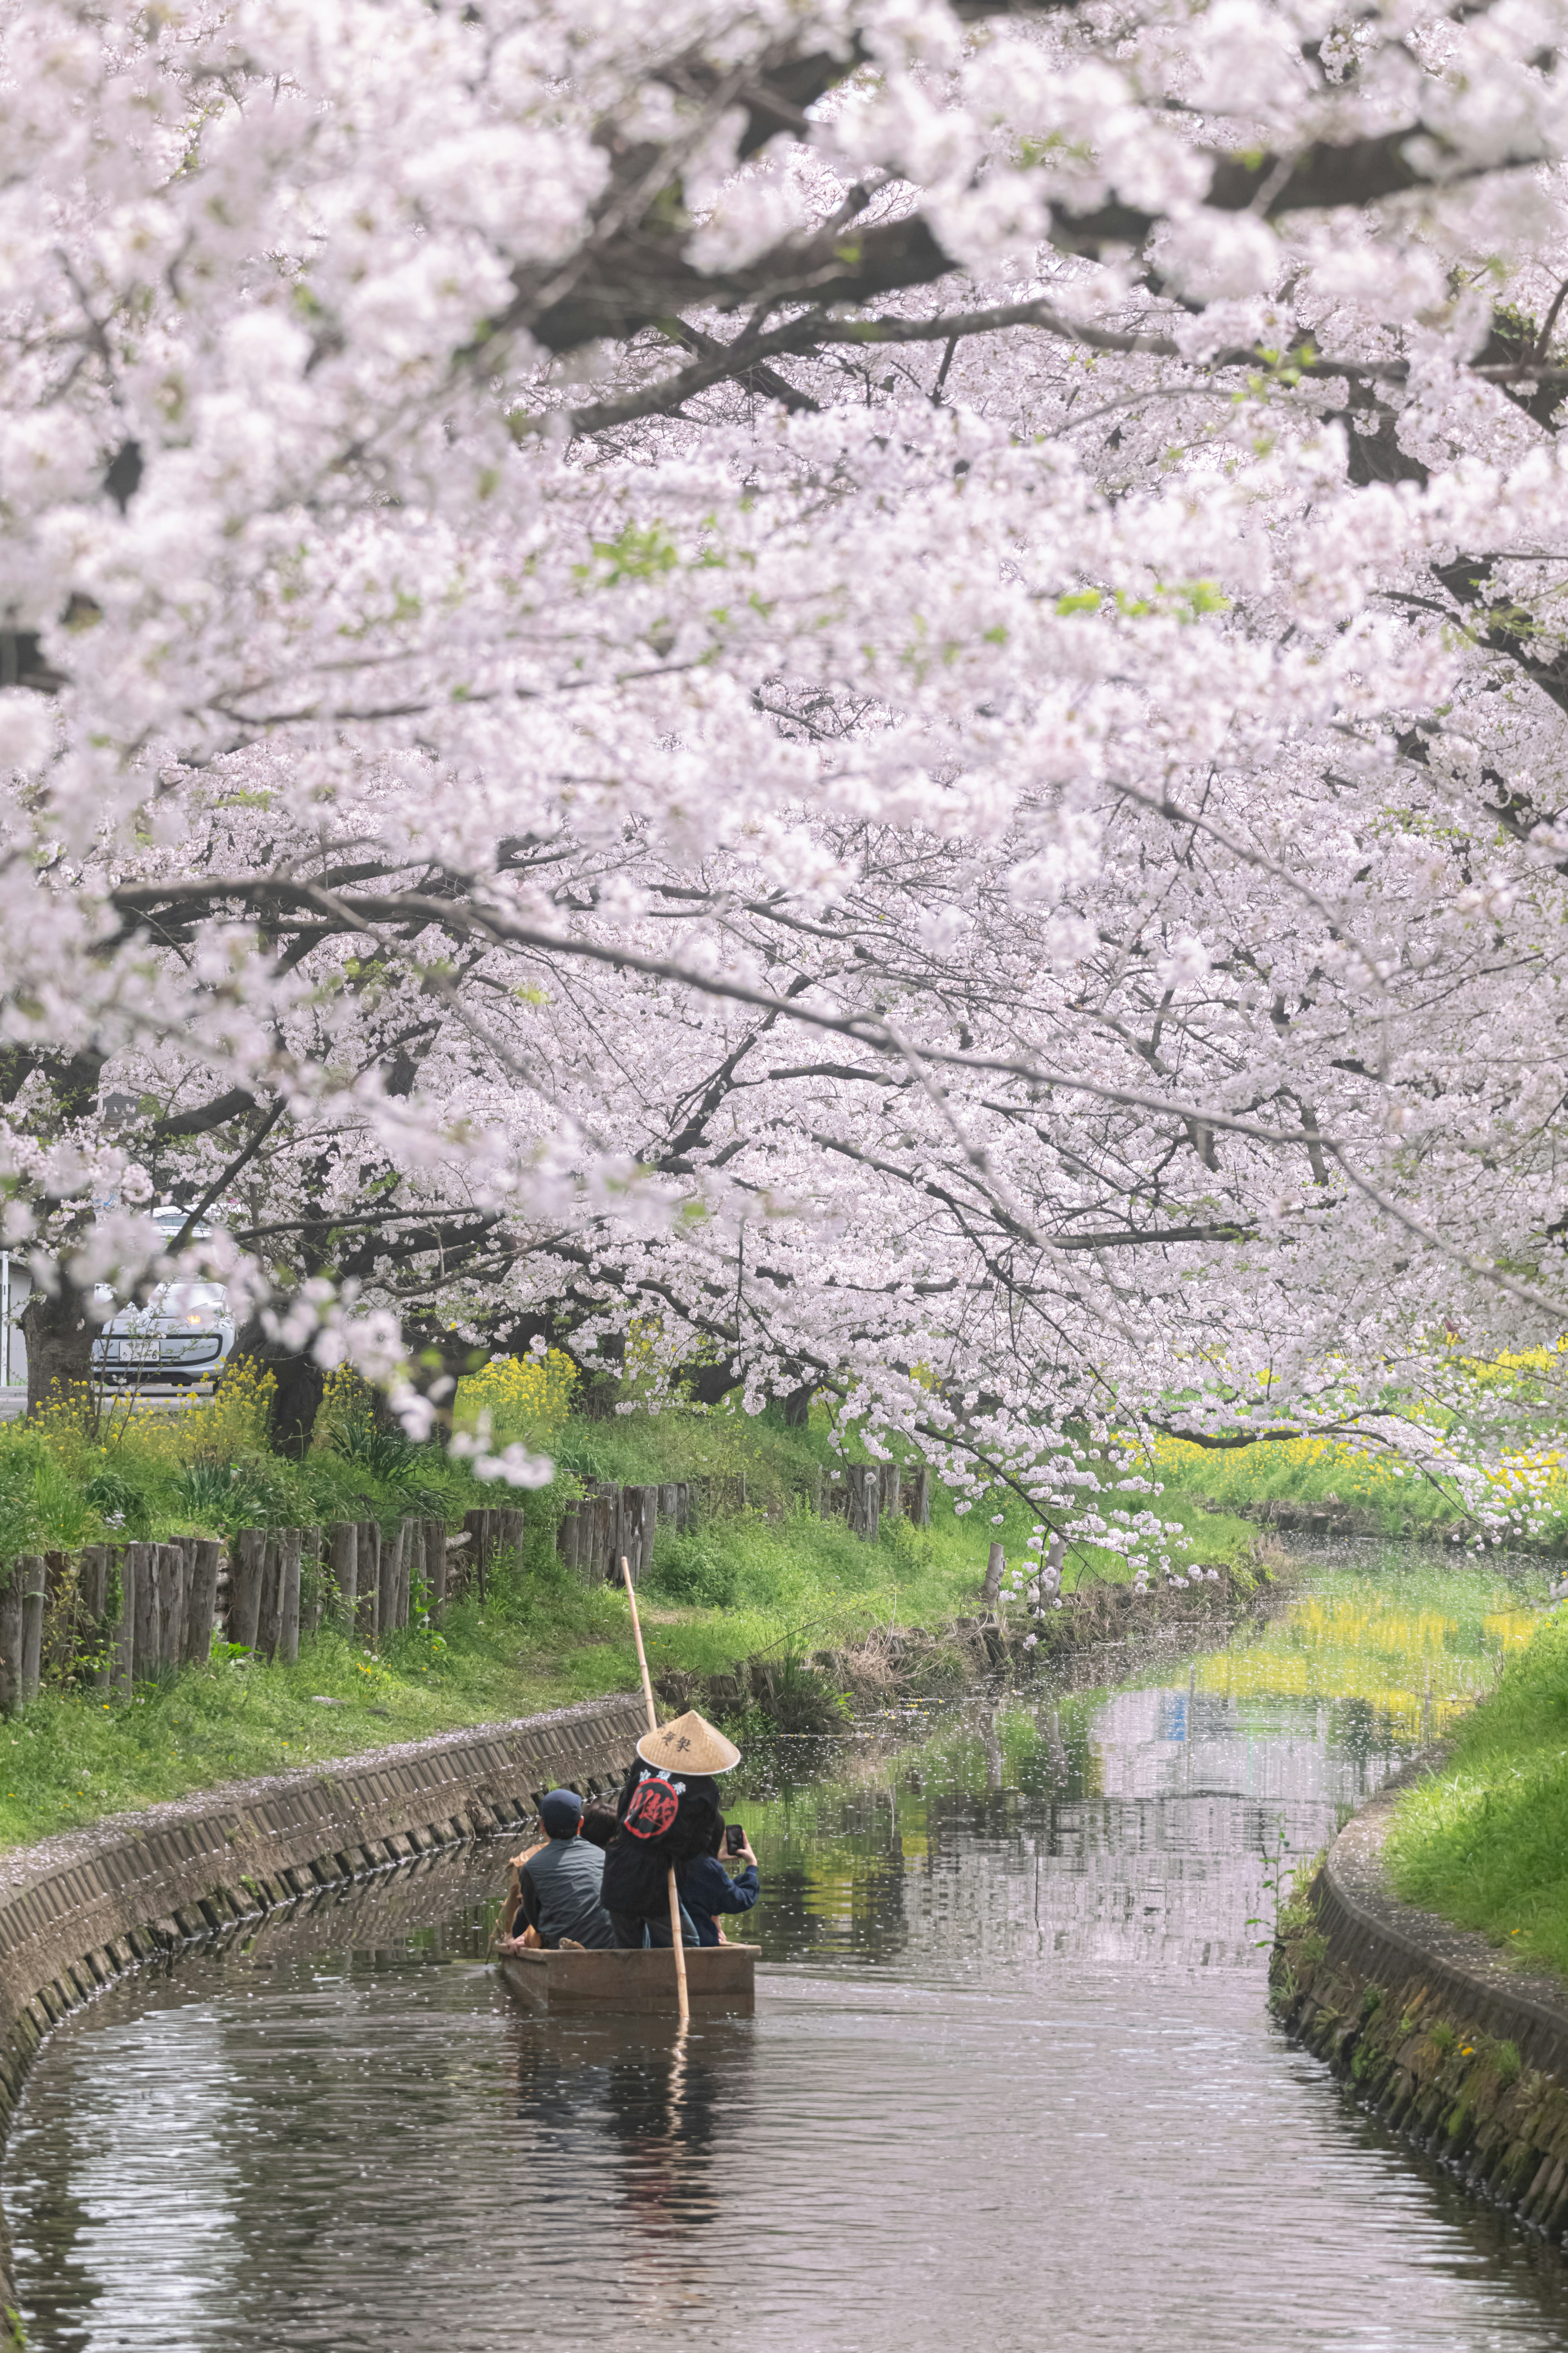
[[[1399,1786],[1340,1833],[1281,1922],[1284,2026],[1465,2186],[1568,2252],[1568,1988],[1389,1892]]]

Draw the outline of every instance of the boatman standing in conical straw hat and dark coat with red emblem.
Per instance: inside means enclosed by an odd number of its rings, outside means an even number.
[[[715,1774],[741,1762],[733,1741],[696,1708],[637,1741],[604,1857],[604,1908],[616,1925],[616,1944],[670,1944],[670,1866],[708,1854],[719,1819]],[[696,1922],[682,1906],[682,1944],[698,1944]]]

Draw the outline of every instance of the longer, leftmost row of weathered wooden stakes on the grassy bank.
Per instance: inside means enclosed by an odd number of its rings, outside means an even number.
[[[520,1544],[520,1511],[470,1511],[456,1537],[444,1520],[339,1520],[244,1527],[228,1558],[209,1537],[21,1553],[0,1586],[0,1711],[26,1706],[45,1666],[129,1694],[207,1659],[214,1633],[294,1661],[322,1624],[364,1642],[435,1624],[463,1593],[484,1600],[491,1560]]]

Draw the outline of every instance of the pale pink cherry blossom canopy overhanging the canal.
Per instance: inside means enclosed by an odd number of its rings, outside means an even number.
[[[1112,1433],[1446,1464],[1566,1320],[1561,14],[12,5],[38,1393],[205,1264],[1131,1558]]]

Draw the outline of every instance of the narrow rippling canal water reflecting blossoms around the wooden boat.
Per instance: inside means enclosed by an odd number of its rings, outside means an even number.
[[[1272,2031],[1260,1948],[1281,1842],[1490,1685],[1519,1600],[1335,1555],[1114,1689],[780,1748],[729,1807],[757,2017],[684,2052],[512,2007],[496,1854],[125,1984],[12,2132],[28,2346],[1561,2348],[1554,2259]]]

